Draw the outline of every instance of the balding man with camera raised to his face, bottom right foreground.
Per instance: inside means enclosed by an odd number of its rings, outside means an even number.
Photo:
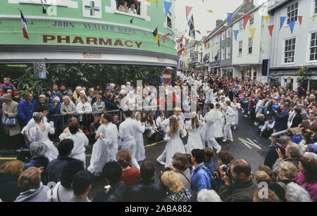
[[[224,184],[218,195],[224,202],[252,202],[253,192],[258,187],[251,179],[251,165],[244,159],[235,159],[229,165],[220,167]]]

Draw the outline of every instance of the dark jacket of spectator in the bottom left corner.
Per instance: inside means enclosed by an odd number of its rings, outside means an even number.
[[[3,202],[13,202],[18,197],[18,177],[0,174],[0,199]]]

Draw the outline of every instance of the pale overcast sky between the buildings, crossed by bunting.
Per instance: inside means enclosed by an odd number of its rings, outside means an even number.
[[[264,0],[254,0],[254,5],[259,6]],[[199,30],[201,35],[196,32],[196,39],[200,40],[203,36],[207,36],[216,27],[216,20],[225,20],[227,13],[232,13],[242,4],[243,0],[176,0],[175,1],[175,29],[176,37],[188,36],[189,26],[186,19],[186,6],[191,6],[192,11],[188,15],[188,19],[194,15],[195,30]],[[213,10],[209,13],[207,10]],[[187,32],[185,33],[185,30]]]

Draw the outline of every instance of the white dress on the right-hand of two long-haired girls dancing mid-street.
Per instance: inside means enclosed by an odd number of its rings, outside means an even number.
[[[192,120],[187,121],[186,124],[186,129],[188,131],[188,139],[187,139],[187,154],[191,155],[192,154],[192,150],[193,149],[203,149],[203,144],[201,142],[201,138],[200,138],[200,128],[201,126],[199,125],[199,127],[192,127]]]

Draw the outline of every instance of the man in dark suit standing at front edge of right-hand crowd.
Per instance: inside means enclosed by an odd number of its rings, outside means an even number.
[[[274,111],[274,115],[275,115],[275,125],[273,127],[273,133],[277,133],[287,129],[289,113],[287,112],[284,104],[281,104],[280,108]],[[271,146],[275,144],[276,144],[276,136],[273,136]]]

